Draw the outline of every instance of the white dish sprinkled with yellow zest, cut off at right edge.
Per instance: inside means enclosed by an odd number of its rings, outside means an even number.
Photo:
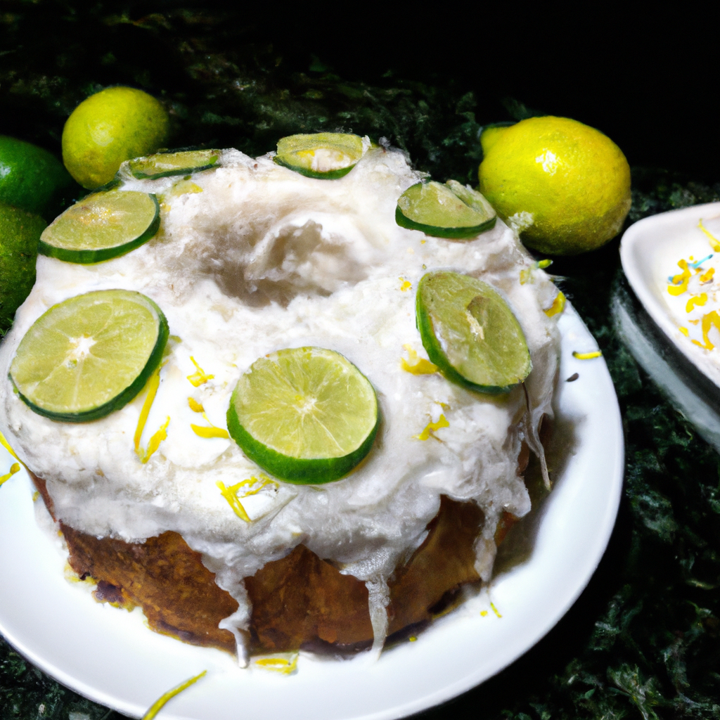
[[[716,264],[720,257],[698,228],[700,220],[720,238],[720,202],[694,205],[652,215],[631,225],[623,235],[620,258],[630,287],[654,323],[700,372],[720,386],[720,348],[708,351],[693,345],[692,336],[685,337],[678,329],[682,325],[698,334],[698,328],[691,328],[688,319],[716,309],[716,305],[711,307],[710,302],[706,308],[697,308],[693,315],[688,315],[683,309],[688,294],[672,298],[667,292],[668,277],[680,273],[681,258],[693,256],[701,260],[714,253],[712,264]],[[719,276],[716,272],[715,279]],[[720,344],[716,330],[711,330],[711,339]]]

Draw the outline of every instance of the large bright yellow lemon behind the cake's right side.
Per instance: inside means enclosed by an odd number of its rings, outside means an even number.
[[[498,129],[478,175],[498,214],[543,253],[599,248],[630,210],[630,168],[620,148],[567,117],[530,117]]]

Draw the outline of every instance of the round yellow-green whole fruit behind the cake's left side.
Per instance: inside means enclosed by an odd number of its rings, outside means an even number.
[[[63,162],[88,189],[112,180],[120,163],[154,153],[168,138],[166,109],[127,87],[101,90],[81,102],[63,128]]]

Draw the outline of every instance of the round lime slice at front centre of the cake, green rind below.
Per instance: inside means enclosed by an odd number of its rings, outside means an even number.
[[[240,377],[228,431],[281,480],[338,480],[369,453],[378,426],[369,380],[341,354],[290,348],[256,360]]]

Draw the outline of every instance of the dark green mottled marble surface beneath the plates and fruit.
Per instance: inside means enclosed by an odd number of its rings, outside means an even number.
[[[307,63],[292,48],[253,40],[222,12],[160,6],[143,14],[137,4],[3,2],[0,132],[58,153],[77,102],[131,84],[171,109],[175,146],[259,154],[282,135],[343,128],[387,137],[436,179],[472,182],[480,125],[528,112],[507,103],[503,117],[490,115],[447,78],[344,81],[318,58]],[[720,198],[720,184],[670,171],[634,168],[633,184],[628,222]],[[497,677],[423,716],[720,719],[720,458],[613,330],[611,297],[623,282],[618,240],[557,258],[552,271],[598,338],[616,385],[626,438],[616,528],[590,585],[555,629]],[[72,713],[120,717],[50,680],[0,639],[0,718]]]

